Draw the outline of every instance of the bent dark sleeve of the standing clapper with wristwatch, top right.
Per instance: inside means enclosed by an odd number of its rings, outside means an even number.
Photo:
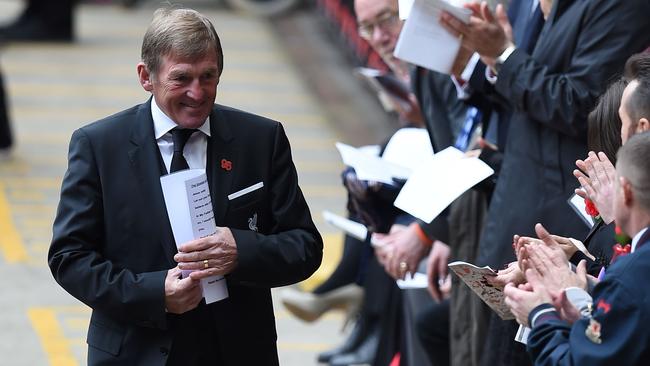
[[[584,120],[605,87],[602,82],[620,73],[627,55],[641,50],[648,39],[648,27],[639,26],[647,23],[647,1],[607,0],[588,6],[583,18],[572,19],[583,22],[573,53],[555,55],[565,65],[560,72],[517,49],[502,65],[495,85],[529,119],[578,137],[586,132]],[[542,31],[538,47],[544,37]]]

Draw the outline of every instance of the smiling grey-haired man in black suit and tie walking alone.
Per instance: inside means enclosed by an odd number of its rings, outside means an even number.
[[[48,259],[93,309],[90,365],[278,364],[270,288],[309,277],[322,240],[282,126],[214,105],[222,69],[209,19],[159,9],[137,66],[153,98],[72,135]],[[188,167],[206,170],[218,228],[174,243],[160,176]],[[206,305],[212,275],[229,297]]]

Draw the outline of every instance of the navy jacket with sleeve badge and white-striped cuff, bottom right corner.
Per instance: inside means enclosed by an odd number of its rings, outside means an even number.
[[[640,280],[650,276],[647,234],[639,240],[637,250],[619,257],[594,288],[591,318],[597,323],[581,317],[571,325],[555,311],[540,315],[528,338],[528,352],[535,365],[648,364],[650,287]],[[531,318],[543,307],[533,309]],[[588,327],[595,326],[600,327],[599,343],[585,335]]]

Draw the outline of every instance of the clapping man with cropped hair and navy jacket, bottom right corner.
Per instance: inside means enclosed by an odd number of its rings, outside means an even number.
[[[535,265],[526,270],[531,291],[506,287],[506,302],[513,314],[532,328],[528,351],[535,364],[647,364],[650,288],[640,285],[639,279],[650,275],[650,199],[643,188],[650,182],[648,154],[648,132],[634,135],[619,150],[614,216],[623,232],[633,236],[632,253],[619,257],[607,269],[594,288],[593,300],[583,293],[588,299],[584,303],[589,305],[586,314],[580,316],[576,309],[559,311],[551,305],[558,291],[545,277],[555,277],[557,283],[557,271],[545,273]]]

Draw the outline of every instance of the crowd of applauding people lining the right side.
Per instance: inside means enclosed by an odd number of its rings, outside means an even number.
[[[454,146],[495,174],[423,222],[393,206],[403,182],[363,181],[346,169],[350,218],[373,234],[347,236],[333,275],[313,293],[288,290],[283,302],[313,320],[357,306],[349,289],[363,289],[349,337],[318,356],[330,365],[644,364],[650,3],[465,7],[469,22],[445,11],[438,19],[461,43],[448,75],[393,55],[403,26],[397,0],[354,1],[359,35],[410,86],[408,108],[396,106],[400,129],[426,131],[433,152]],[[593,225],[569,204],[574,195]],[[516,320],[450,276],[455,260],[504,268],[486,281]],[[396,286],[418,269],[430,296]],[[527,340],[516,341],[525,327]]]

